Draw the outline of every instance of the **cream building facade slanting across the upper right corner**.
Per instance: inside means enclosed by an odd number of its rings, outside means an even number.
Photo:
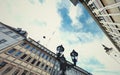
[[[120,0],[70,0],[75,6],[81,2],[118,51],[109,55],[120,62]]]

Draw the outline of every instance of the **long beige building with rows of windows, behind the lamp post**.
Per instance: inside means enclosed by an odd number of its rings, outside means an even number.
[[[91,75],[66,62],[65,75]],[[0,75],[61,75],[57,55],[27,38],[27,32],[0,23]]]

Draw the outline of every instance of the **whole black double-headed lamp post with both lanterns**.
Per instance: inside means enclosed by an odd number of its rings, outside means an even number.
[[[73,50],[70,53],[70,56],[71,56],[72,61],[74,62],[74,64],[73,65],[68,65],[67,61],[66,61],[66,58],[62,54],[64,52],[64,47],[62,45],[60,45],[60,46],[58,46],[56,48],[56,50],[57,50],[57,59],[60,61],[60,71],[62,72],[60,75],[65,75],[66,69],[68,67],[70,68],[72,66],[76,66],[78,53],[75,50]]]

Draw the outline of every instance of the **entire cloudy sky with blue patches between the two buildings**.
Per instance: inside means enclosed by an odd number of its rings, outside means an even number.
[[[69,0],[0,0],[0,22],[28,32],[28,37],[53,52],[63,45],[78,52],[77,66],[93,75],[120,75],[120,64],[105,53],[102,44],[116,48],[79,3]],[[46,38],[44,39],[43,36]]]

